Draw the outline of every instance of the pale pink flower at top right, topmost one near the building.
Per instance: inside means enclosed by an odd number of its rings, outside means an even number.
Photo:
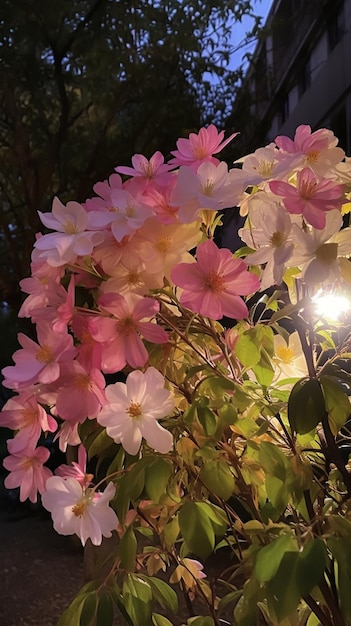
[[[294,140],[279,135],[275,144],[283,151],[300,157],[301,165],[307,165],[316,174],[324,176],[326,172],[340,163],[345,152],[336,147],[338,143],[334,133],[327,128],[315,132],[307,124],[301,124],[295,131]]]

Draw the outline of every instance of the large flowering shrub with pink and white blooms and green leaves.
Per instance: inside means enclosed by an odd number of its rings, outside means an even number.
[[[189,626],[351,624],[351,160],[300,126],[228,169],[232,139],[202,128],[40,213],[5,484],[107,540],[60,626],[180,624],[175,589]],[[55,475],[49,434],[77,450]]]

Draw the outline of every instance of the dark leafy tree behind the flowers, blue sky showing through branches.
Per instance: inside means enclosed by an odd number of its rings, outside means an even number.
[[[234,21],[251,3],[3,0],[0,296],[15,308],[52,198],[84,201],[136,152],[223,118]],[[254,20],[255,27],[259,20]]]

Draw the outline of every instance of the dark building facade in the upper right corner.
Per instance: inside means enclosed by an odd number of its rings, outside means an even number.
[[[351,154],[351,0],[274,0],[264,32],[229,122],[241,153],[309,124]]]

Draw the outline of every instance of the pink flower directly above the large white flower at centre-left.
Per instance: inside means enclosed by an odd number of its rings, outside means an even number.
[[[128,363],[142,367],[148,352],[141,337],[152,343],[167,343],[167,333],[151,320],[159,311],[152,298],[135,294],[104,294],[99,306],[111,317],[90,317],[89,330],[96,341],[102,342],[102,370],[120,371]]]

